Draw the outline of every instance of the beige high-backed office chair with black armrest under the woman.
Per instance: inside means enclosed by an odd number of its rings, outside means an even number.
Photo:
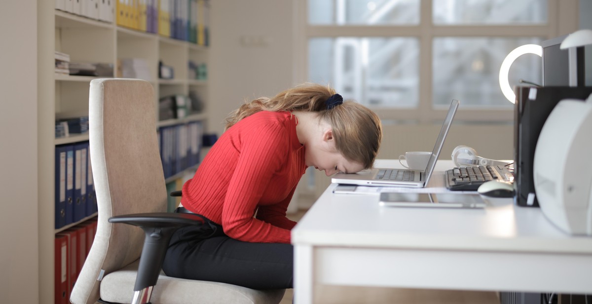
[[[172,233],[202,222],[195,215],[166,213],[155,100],[147,81],[91,81],[89,140],[98,227],[70,301],[279,303],[284,289],[177,279],[161,271]]]

